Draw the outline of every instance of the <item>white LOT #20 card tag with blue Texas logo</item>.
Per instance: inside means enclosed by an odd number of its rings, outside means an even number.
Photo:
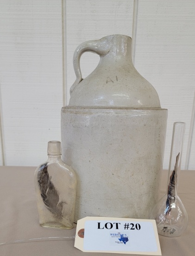
[[[77,222],[75,247],[85,252],[162,255],[155,220],[83,218]]]

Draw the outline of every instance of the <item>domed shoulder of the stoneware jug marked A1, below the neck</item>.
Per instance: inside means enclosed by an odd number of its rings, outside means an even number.
[[[137,71],[108,68],[82,80],[73,90],[69,106],[160,108],[160,101],[157,91]]]

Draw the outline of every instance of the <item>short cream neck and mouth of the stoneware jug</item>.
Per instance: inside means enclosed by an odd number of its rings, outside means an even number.
[[[104,58],[116,58],[132,64],[132,39],[126,35],[111,35],[104,38],[109,45],[109,52]]]

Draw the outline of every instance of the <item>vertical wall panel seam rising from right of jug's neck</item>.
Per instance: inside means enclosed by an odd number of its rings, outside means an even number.
[[[136,32],[138,19],[138,0],[133,2],[133,22],[132,22],[132,62],[135,64],[135,47],[136,47]]]

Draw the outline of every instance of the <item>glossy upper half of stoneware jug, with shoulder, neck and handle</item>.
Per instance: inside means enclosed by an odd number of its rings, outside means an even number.
[[[111,35],[77,47],[74,54],[76,81],[70,88],[69,106],[160,108],[156,90],[132,64],[131,44],[128,36]],[[100,62],[83,80],[80,58],[86,51],[99,54]]]

